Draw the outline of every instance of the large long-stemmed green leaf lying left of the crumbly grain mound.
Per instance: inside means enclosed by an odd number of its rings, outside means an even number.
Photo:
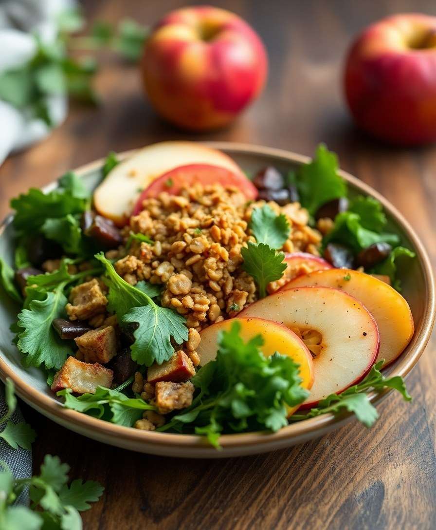
[[[155,304],[146,292],[145,282],[138,288],[124,281],[102,253],[96,258],[103,263],[106,271],[109,311],[115,312],[121,322],[139,323],[134,331],[135,342],[131,346],[132,359],[147,366],[154,361],[161,364],[170,359],[174,353],[171,338],[177,344],[188,338],[184,317]]]

